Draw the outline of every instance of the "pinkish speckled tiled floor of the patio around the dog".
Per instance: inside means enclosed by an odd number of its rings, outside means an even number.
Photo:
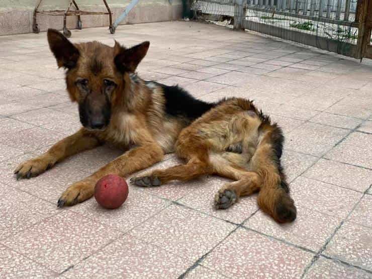
[[[30,180],[12,170],[79,127],[45,33],[0,37],[0,277],[372,278],[372,63],[194,22],[72,31],[71,40],[149,40],[145,79],[206,101],[254,99],[284,129],[298,206],[279,225],[256,196],[213,208],[227,180],[130,186],[118,210],[59,194],[120,154],[100,147]],[[22,53],[22,54],[20,54]],[[166,156],[156,167],[174,165]]]

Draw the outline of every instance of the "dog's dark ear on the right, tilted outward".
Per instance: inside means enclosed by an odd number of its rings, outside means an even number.
[[[146,41],[139,45],[131,48],[122,47],[119,54],[115,56],[115,65],[119,71],[124,72],[134,72],[143,57],[145,57],[150,42]],[[117,42],[115,43],[115,48],[117,48]]]

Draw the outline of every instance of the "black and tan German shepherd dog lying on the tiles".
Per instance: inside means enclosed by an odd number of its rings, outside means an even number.
[[[135,70],[149,42],[125,48],[97,41],[72,44],[49,29],[48,42],[58,67],[66,69],[66,85],[78,104],[82,128],[46,153],[21,163],[17,179],[36,176],[66,157],[105,142],[127,150],[97,172],[73,183],[57,206],[71,206],[94,194],[96,182],[115,173],[126,177],[176,152],[187,162],[134,177],[142,187],[170,180],[189,180],[205,174],[228,177],[215,206],[225,209],[241,196],[259,192],[260,208],[277,222],[291,222],[296,207],[281,166],[282,130],[252,102],[231,98],[206,103],[178,86],[140,79]],[[130,148],[131,147],[131,148]]]

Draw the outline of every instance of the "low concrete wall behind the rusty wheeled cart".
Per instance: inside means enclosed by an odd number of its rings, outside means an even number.
[[[33,23],[33,11],[38,0],[0,0],[0,35],[31,33]],[[40,10],[64,10],[68,6],[68,0],[43,0]],[[80,10],[106,12],[102,0],[76,0]],[[129,0],[107,0],[113,13],[113,22],[125,7]],[[182,16],[181,0],[140,0],[132,9],[127,18],[121,23],[134,24],[146,22],[159,22],[178,20]],[[108,15],[81,16],[83,28],[109,26]],[[37,15],[37,23],[41,31],[47,28],[62,29],[62,16]],[[67,17],[67,27],[75,29],[77,17]]]

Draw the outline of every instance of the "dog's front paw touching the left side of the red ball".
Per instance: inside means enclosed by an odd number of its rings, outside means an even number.
[[[57,207],[73,206],[81,203],[94,195],[95,183],[78,181],[66,189],[57,202]]]

